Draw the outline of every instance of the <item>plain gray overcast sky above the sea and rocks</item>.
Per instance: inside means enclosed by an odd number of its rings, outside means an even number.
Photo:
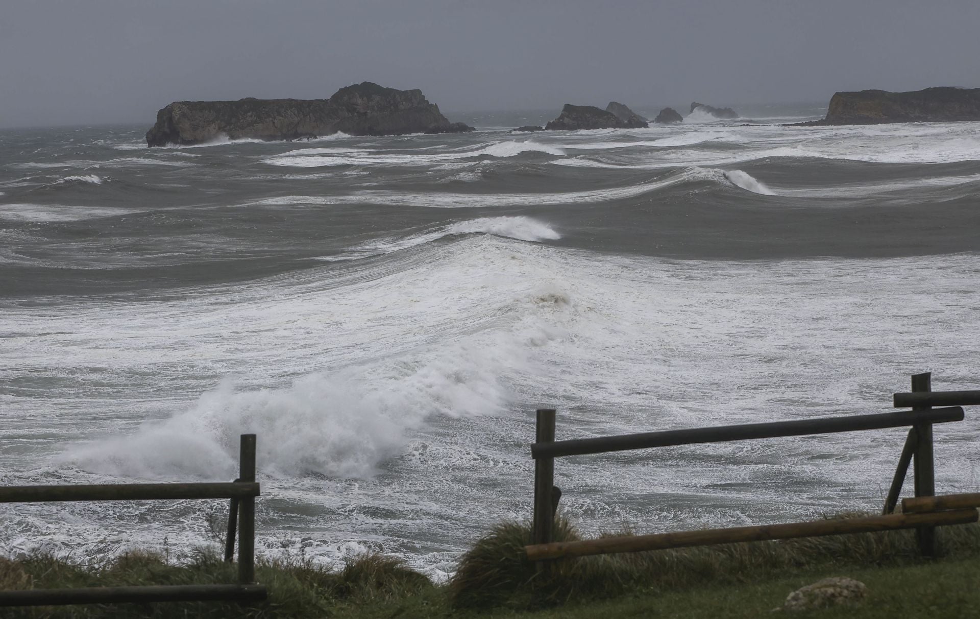
[[[978,26],[980,0],[0,0],[0,127],[364,80],[444,111],[556,113],[976,87]]]

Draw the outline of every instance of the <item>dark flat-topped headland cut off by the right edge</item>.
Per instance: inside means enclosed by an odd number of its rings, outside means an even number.
[[[980,88],[936,86],[910,92],[835,92],[822,121],[802,125],[879,125],[980,121]]]

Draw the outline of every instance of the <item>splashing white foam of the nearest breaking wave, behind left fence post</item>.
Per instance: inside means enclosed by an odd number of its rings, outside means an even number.
[[[494,377],[488,368],[461,367],[464,354],[406,359],[381,375],[379,368],[309,375],[280,389],[236,391],[225,382],[161,424],[75,448],[66,458],[124,477],[231,477],[235,439],[257,433],[267,473],[368,477],[427,416],[498,410]]]

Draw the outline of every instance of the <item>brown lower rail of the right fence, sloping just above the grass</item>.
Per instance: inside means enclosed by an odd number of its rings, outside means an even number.
[[[978,513],[976,509],[960,509],[925,514],[895,514],[867,518],[794,522],[783,525],[706,529],[704,531],[684,531],[649,536],[625,536],[582,542],[541,543],[524,546],[524,550],[527,553],[528,559],[531,561],[540,561],[542,559],[558,559],[567,556],[664,550],[667,548],[710,545],[714,543],[763,542],[766,540],[788,540],[791,538],[812,538],[872,531],[889,531],[893,529],[911,529],[920,525],[958,525],[977,522],[977,517]]]

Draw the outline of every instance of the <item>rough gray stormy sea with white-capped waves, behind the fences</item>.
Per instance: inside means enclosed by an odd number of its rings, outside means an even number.
[[[642,112],[642,110],[641,110]],[[650,129],[147,148],[0,130],[0,484],[228,481],[259,551],[435,578],[530,517],[558,438],[887,412],[980,387],[980,124]],[[937,426],[976,491],[980,419]],[[564,458],[586,534],[880,509],[905,431]],[[215,543],[224,501],[0,507],[0,551]]]

